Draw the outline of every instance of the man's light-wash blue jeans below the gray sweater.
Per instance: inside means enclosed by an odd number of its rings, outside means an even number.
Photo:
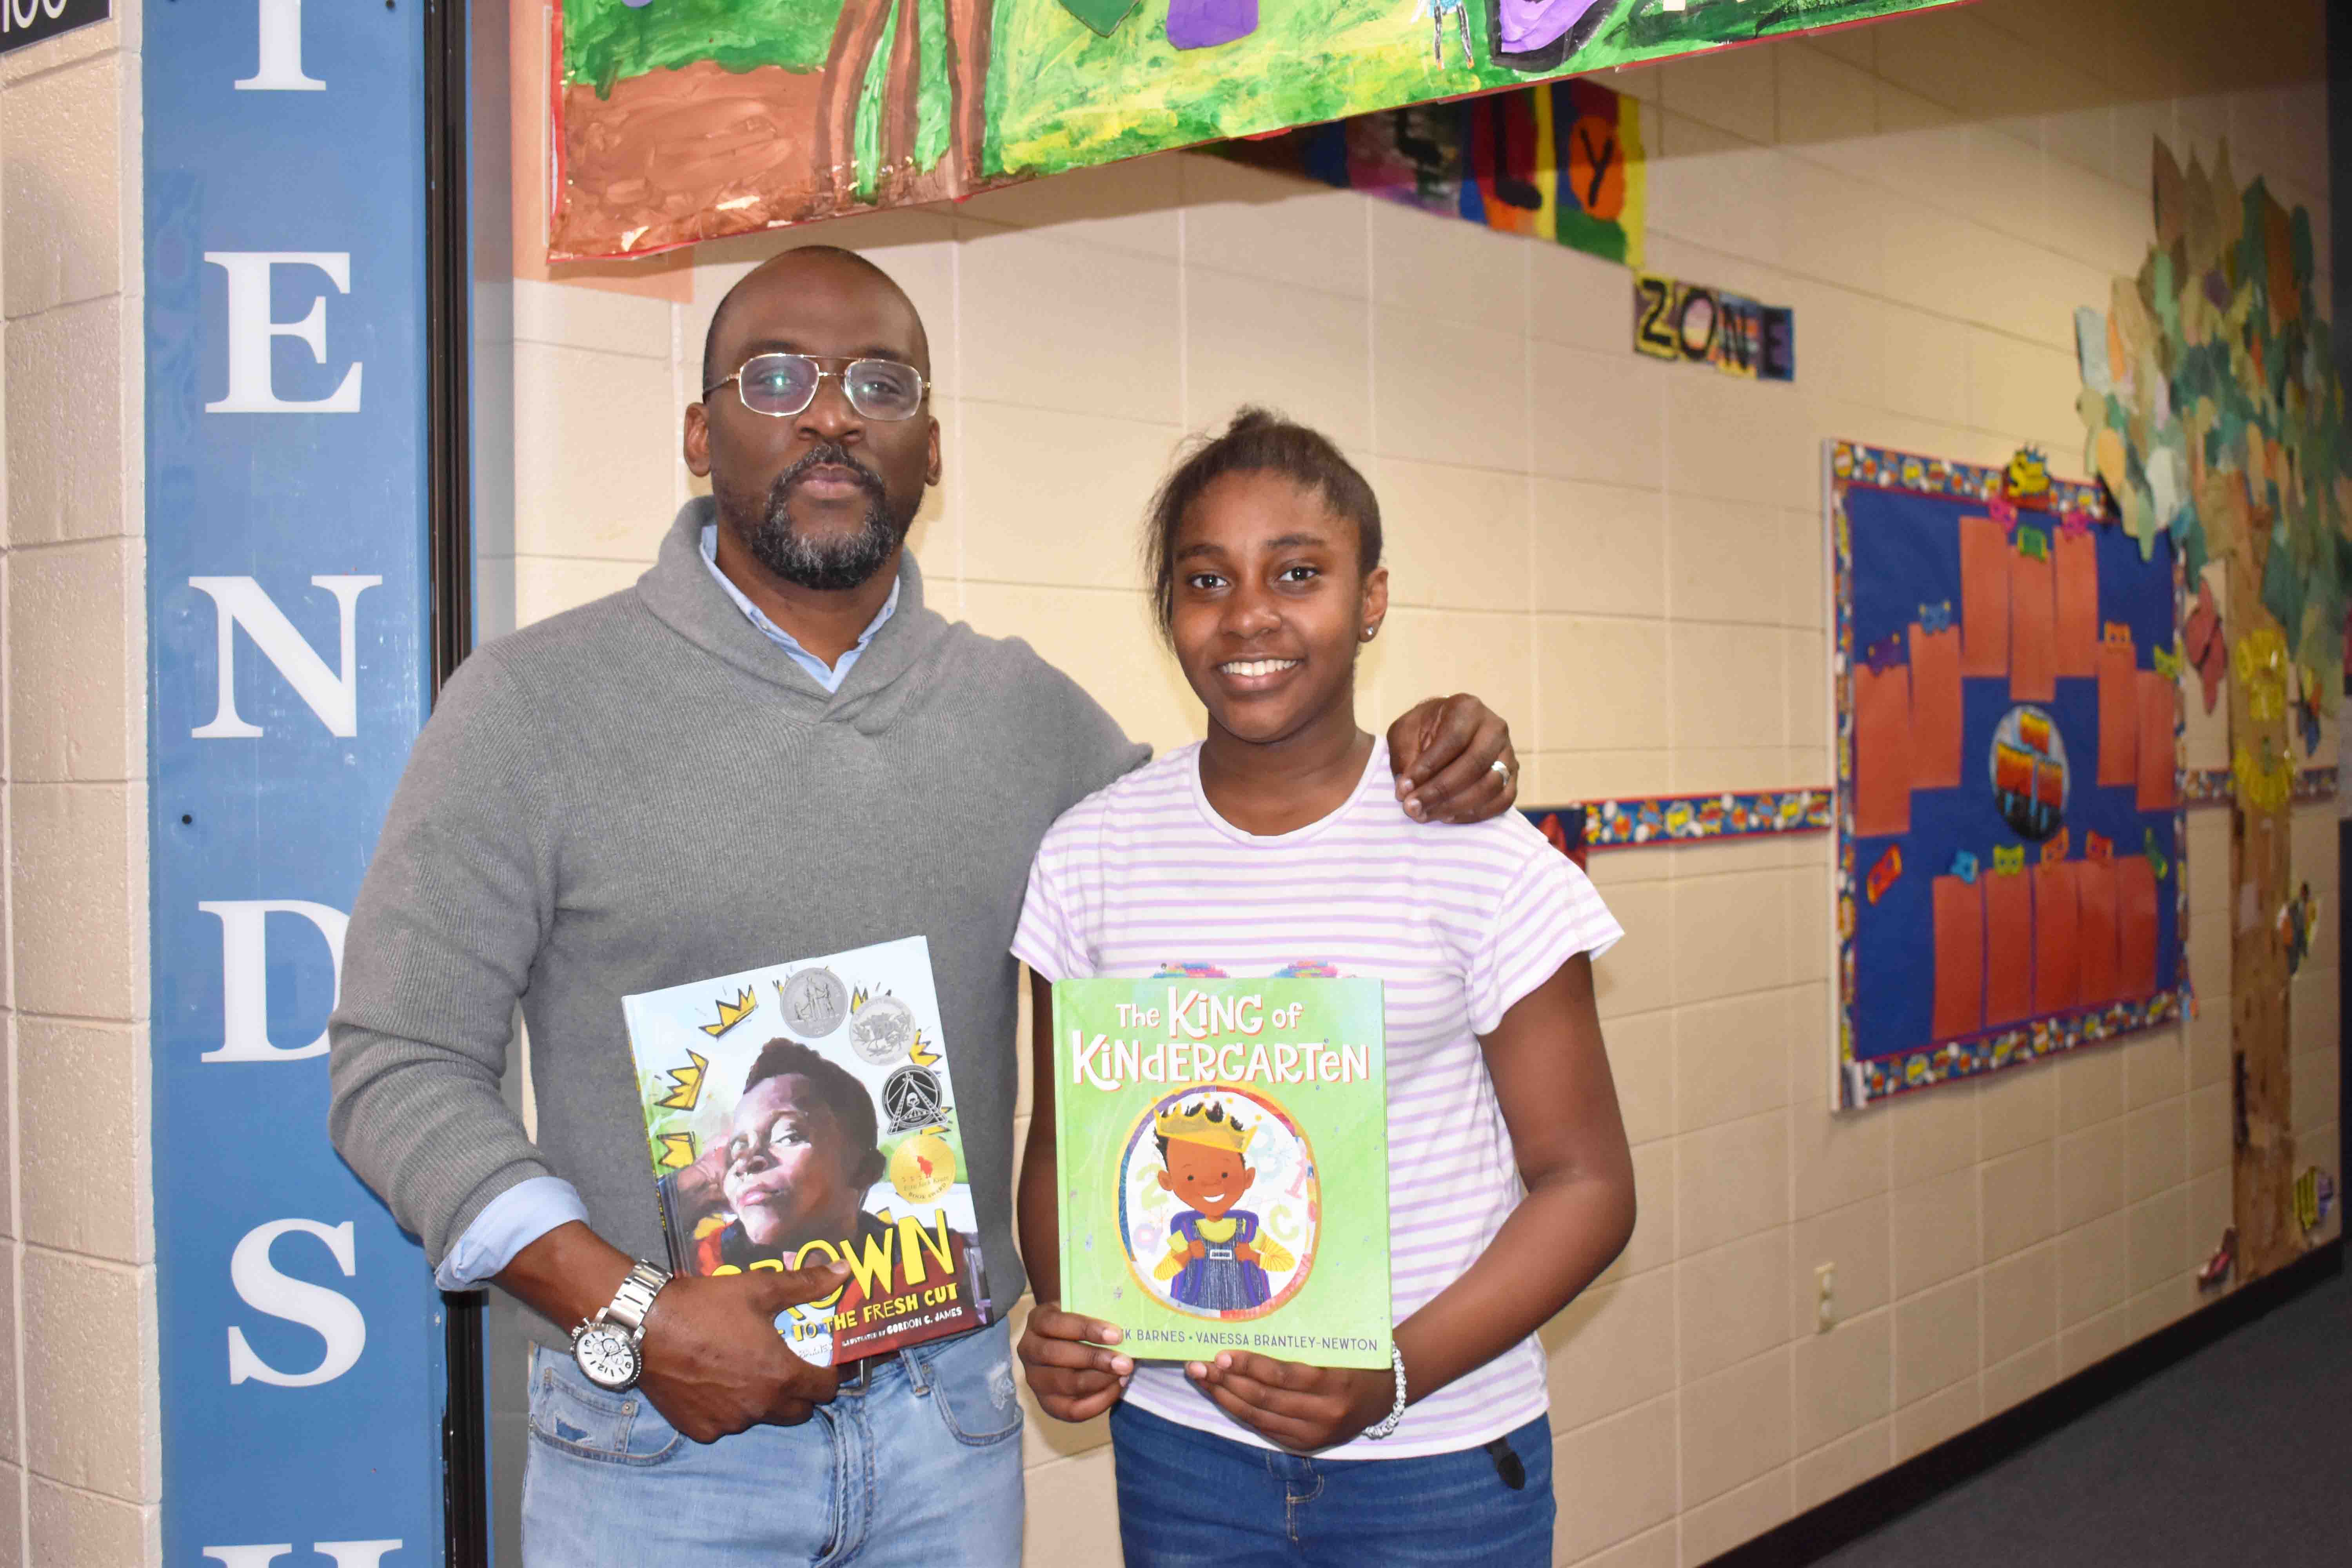
[[[532,1349],[524,1568],[943,1568],[1021,1561],[1004,1324],[877,1361],[800,1427],[687,1441],[640,1392]]]

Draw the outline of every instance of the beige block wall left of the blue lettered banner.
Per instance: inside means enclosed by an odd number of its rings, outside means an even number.
[[[0,56],[0,1563],[155,1563],[139,5]],[[92,1084],[108,1091],[92,1095]],[[26,1152],[38,1157],[26,1157]]]

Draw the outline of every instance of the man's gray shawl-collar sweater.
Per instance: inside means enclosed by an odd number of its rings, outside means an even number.
[[[663,1260],[621,997],[927,936],[1002,1312],[1030,856],[1148,750],[1025,642],[927,609],[913,555],[826,693],[703,567],[710,520],[691,501],[635,588],[485,644],[442,691],[343,943],[334,1145],[435,1262],[532,1175]],[[517,1001],[536,1143],[499,1095]]]

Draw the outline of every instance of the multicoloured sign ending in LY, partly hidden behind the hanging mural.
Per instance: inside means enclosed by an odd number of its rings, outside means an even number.
[[[1583,78],[1383,108],[1287,136],[1228,141],[1223,153],[1642,266],[1642,101]]]

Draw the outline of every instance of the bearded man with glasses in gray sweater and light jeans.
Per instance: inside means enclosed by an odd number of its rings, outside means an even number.
[[[990,1295],[1023,1288],[1011,931],[1047,825],[1145,748],[1028,644],[924,607],[903,541],[941,473],[927,371],[922,320],[861,256],[736,284],[684,423],[713,496],[635,588],[466,661],[350,917],[329,1131],[445,1288],[532,1307],[532,1566],[1021,1552],[1002,1321],[814,1368],[774,1316],[837,1267],[640,1262],[666,1246],[621,997],[922,933]],[[1390,745],[1418,816],[1510,804],[1472,698]],[[536,1143],[499,1095],[517,1004]]]

